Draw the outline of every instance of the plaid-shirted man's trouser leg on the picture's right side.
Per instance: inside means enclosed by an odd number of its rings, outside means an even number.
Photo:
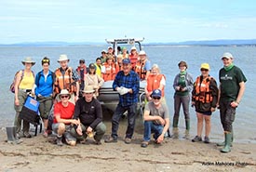
[[[126,138],[131,139],[134,133],[135,120],[136,120],[136,108],[137,104],[128,106],[128,128],[126,132]]]

